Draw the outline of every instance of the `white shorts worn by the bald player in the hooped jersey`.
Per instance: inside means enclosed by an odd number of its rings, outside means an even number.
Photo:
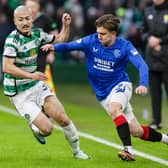
[[[10,97],[18,113],[30,123],[42,111],[44,100],[48,96],[54,96],[51,89],[40,81],[30,89]]]

